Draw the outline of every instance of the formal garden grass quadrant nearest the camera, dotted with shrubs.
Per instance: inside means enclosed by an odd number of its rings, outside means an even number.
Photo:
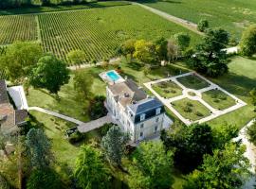
[[[210,115],[210,110],[199,101],[189,98],[181,99],[173,102],[174,109],[178,111],[184,118],[196,121]]]

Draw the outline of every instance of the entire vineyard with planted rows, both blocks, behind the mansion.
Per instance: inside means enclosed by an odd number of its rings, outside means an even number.
[[[83,50],[87,60],[102,60],[113,57],[119,44],[131,38],[154,41],[183,31],[190,33],[192,43],[199,40],[188,29],[146,9],[134,5],[112,6],[0,16],[0,45],[39,41],[45,52],[63,60],[69,51],[76,49]]]

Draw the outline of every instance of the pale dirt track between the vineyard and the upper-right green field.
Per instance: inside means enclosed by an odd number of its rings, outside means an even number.
[[[143,9],[147,9],[155,14],[157,14],[158,16],[161,16],[162,18],[166,19],[166,20],[169,20],[177,25],[180,25],[180,26],[184,26],[188,29],[190,29],[192,32],[194,33],[197,33],[199,35],[204,35],[203,32],[200,32],[197,30],[197,25],[190,22],[190,21],[187,21],[187,20],[184,20],[184,19],[181,19],[181,18],[178,18],[178,17],[175,17],[171,14],[168,14],[164,11],[161,11],[161,10],[158,10],[158,9],[154,9],[154,8],[151,8],[149,6],[145,6],[145,5],[142,5],[140,3],[136,3],[136,2],[131,2],[133,5],[137,5]]]

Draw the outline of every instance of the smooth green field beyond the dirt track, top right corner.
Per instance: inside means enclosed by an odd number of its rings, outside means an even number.
[[[210,26],[220,26],[241,37],[245,26],[256,23],[256,2],[251,0],[149,0],[145,5],[160,9],[176,17],[198,23],[210,21]]]

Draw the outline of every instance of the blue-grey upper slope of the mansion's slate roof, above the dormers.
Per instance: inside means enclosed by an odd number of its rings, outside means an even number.
[[[129,105],[129,108],[137,115],[162,107],[163,104],[157,98],[146,98],[138,101],[136,104]]]

